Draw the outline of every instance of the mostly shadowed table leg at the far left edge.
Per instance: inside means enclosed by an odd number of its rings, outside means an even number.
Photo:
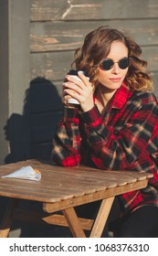
[[[9,230],[12,225],[12,213],[14,208],[16,208],[17,199],[10,198],[5,209],[4,218],[0,224],[0,238],[7,238]]]

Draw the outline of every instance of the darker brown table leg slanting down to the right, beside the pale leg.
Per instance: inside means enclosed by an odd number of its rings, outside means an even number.
[[[74,238],[86,238],[84,230],[79,222],[79,218],[74,208],[63,209],[63,214],[68,222],[68,227]]]

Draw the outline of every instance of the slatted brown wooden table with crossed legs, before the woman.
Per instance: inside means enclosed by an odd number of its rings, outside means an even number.
[[[26,165],[41,172],[40,181],[1,178]],[[41,219],[49,224],[68,226],[74,237],[85,237],[84,229],[91,230],[90,237],[100,237],[114,197],[146,187],[150,177],[153,175],[99,170],[88,166],[61,167],[36,160],[0,166],[0,196],[11,198],[1,223],[0,237],[7,237],[15,218],[33,222]],[[42,202],[47,215],[30,214],[25,210],[21,212],[17,208],[19,199]],[[74,208],[97,200],[101,200],[97,218],[94,221],[79,219]]]

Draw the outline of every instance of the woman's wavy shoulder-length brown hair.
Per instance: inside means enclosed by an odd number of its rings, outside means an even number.
[[[81,48],[75,51],[74,61],[76,69],[85,70],[90,81],[97,87],[99,66],[109,55],[113,41],[122,42],[129,51],[130,67],[125,77],[127,86],[136,91],[152,91],[153,80],[146,70],[147,61],[141,58],[142,49],[124,32],[114,28],[99,27],[92,30],[84,40]]]

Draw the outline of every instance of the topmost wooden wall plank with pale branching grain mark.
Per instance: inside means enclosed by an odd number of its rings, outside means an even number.
[[[30,19],[47,21],[148,18],[158,16],[157,6],[156,0],[32,0]]]

